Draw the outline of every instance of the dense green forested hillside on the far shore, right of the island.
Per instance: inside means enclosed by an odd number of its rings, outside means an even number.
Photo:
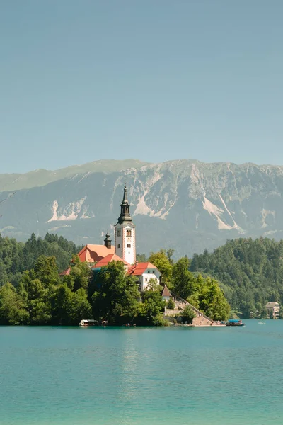
[[[245,317],[265,316],[268,301],[283,302],[283,241],[229,240],[212,254],[195,254],[190,271],[218,280],[233,310]]]

